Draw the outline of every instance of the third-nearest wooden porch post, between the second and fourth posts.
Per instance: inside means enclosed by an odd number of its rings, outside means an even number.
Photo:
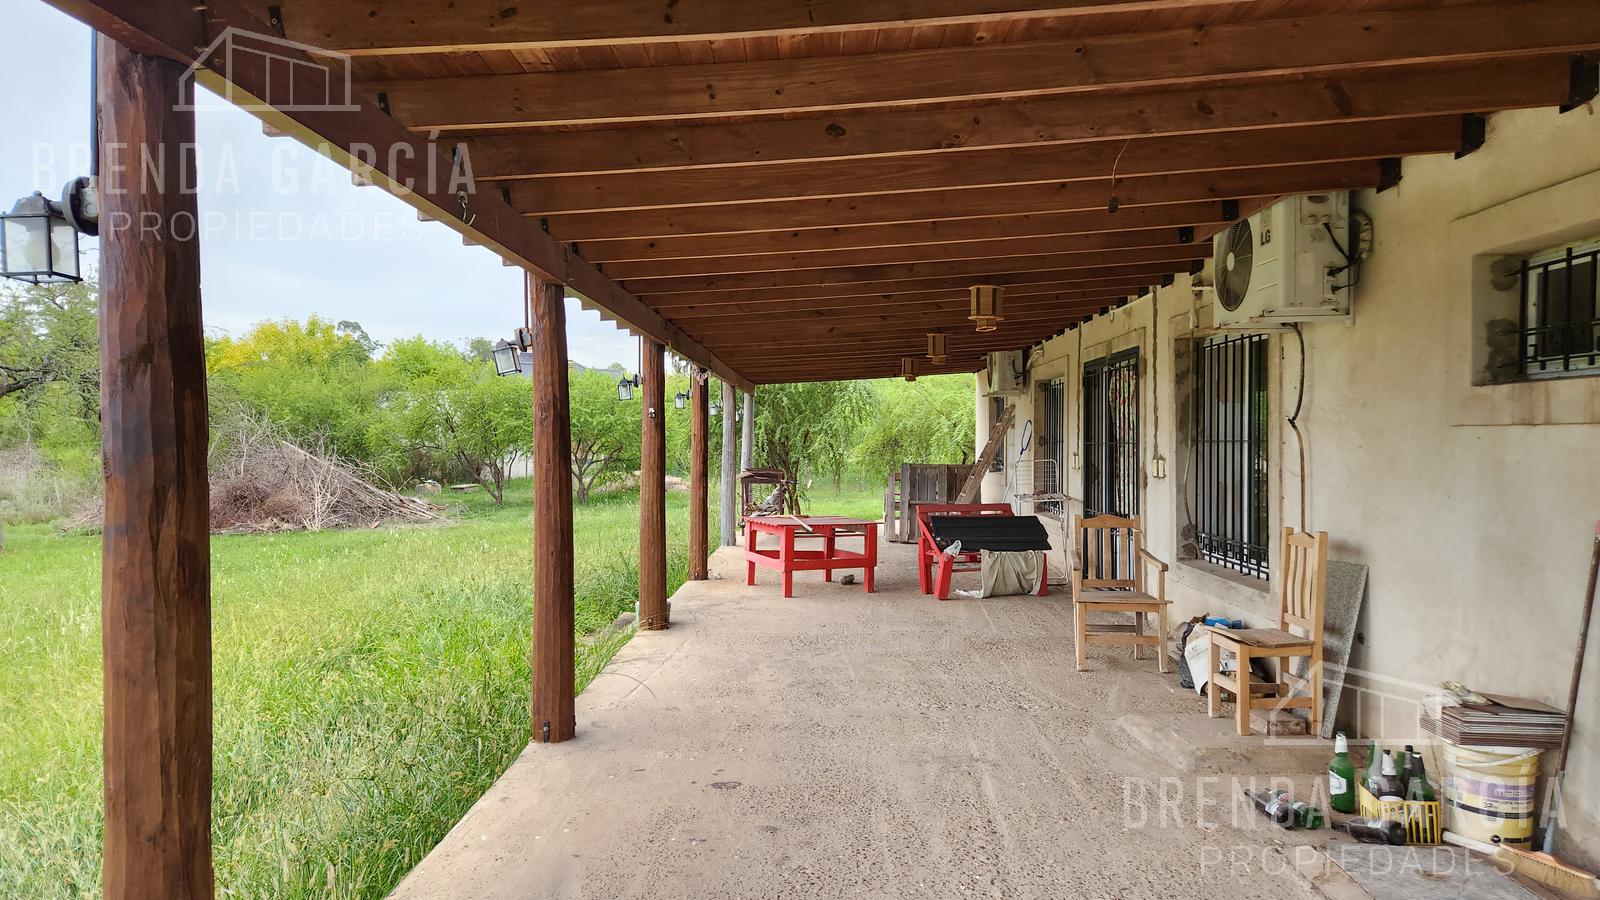
[[[666,348],[640,338],[638,626],[667,626]]]

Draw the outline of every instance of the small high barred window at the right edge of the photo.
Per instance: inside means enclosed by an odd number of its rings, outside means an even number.
[[[1522,264],[1522,373],[1600,373],[1600,239],[1534,253]]]

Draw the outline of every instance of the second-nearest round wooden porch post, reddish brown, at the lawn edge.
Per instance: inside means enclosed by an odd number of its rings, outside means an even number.
[[[566,299],[528,274],[533,315],[533,740],[576,733],[573,706],[573,421]]]

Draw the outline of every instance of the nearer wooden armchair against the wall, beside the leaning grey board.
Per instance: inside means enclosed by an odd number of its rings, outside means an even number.
[[[1283,528],[1283,570],[1278,577],[1282,602],[1277,628],[1211,629],[1211,687],[1206,692],[1206,714],[1213,719],[1222,714],[1222,692],[1232,690],[1238,698],[1238,733],[1250,733],[1251,709],[1310,709],[1309,733],[1322,732],[1322,605],[1323,575],[1328,570],[1328,532],[1315,535]],[[1296,634],[1299,628],[1306,634]],[[1222,653],[1232,652],[1238,665],[1234,674],[1219,671]],[[1278,660],[1277,684],[1254,685],[1251,690],[1250,660],[1270,657]],[[1290,660],[1309,660],[1306,677],[1290,673]],[[1291,684],[1291,681],[1294,684]],[[1306,689],[1296,697],[1293,687]]]

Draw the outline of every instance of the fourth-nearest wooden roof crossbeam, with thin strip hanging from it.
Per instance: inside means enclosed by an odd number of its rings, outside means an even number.
[[[1397,119],[1130,141],[1045,144],[920,157],[826,160],[760,168],[698,168],[536,178],[510,183],[510,202],[542,216],[603,210],[712,207],[818,197],[1096,181],[1227,168],[1334,163],[1454,152],[1462,117]],[[955,208],[960,208],[958,205]]]

